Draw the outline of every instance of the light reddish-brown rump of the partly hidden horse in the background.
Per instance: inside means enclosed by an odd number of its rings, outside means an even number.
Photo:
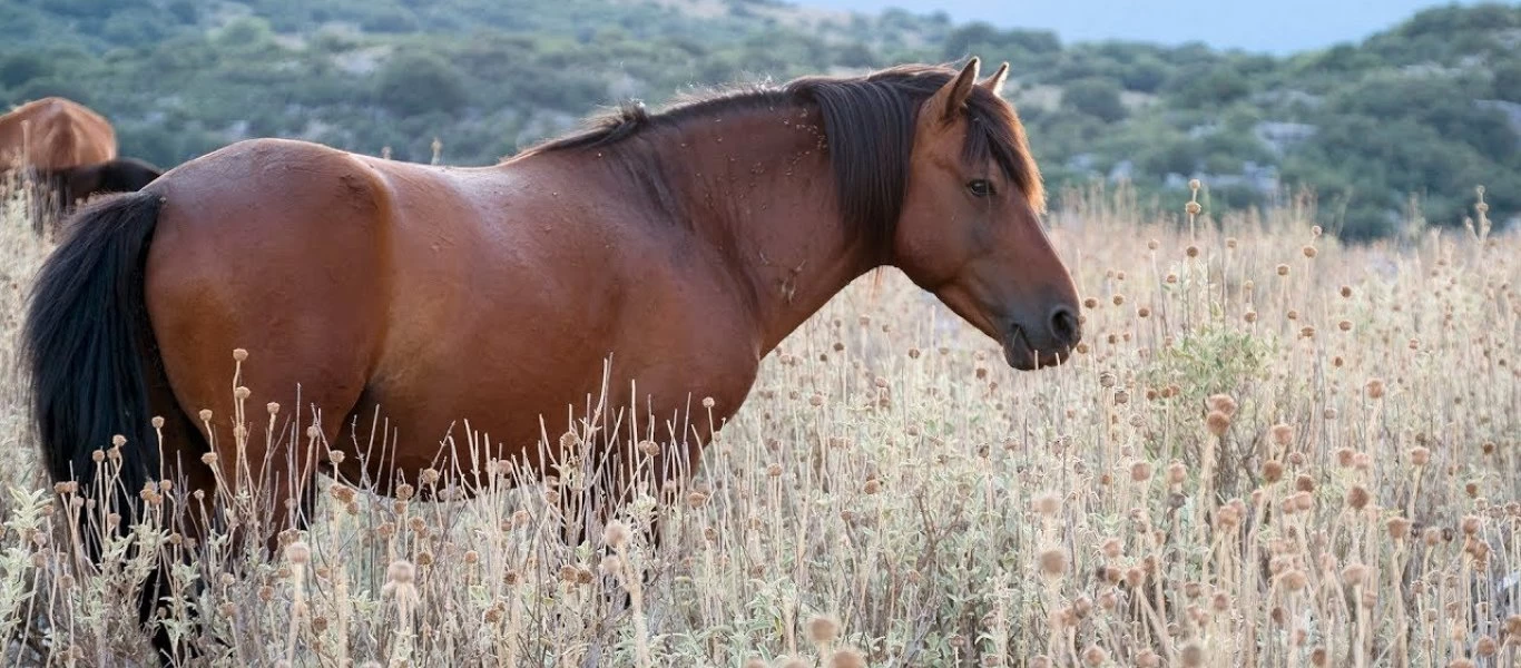
[[[43,97],[0,116],[0,173],[44,170],[116,158],[116,131],[100,114],[64,97]]]

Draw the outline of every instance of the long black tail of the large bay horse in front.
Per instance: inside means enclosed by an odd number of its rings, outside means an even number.
[[[143,485],[161,478],[148,388],[164,377],[143,298],[161,207],[158,193],[134,192],[75,213],[37,275],[20,341],[47,472],[87,498],[114,496],[122,531]]]

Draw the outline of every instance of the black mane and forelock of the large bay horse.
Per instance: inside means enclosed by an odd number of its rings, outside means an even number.
[[[852,78],[803,76],[782,85],[718,88],[678,99],[660,113],[631,102],[592,117],[583,129],[532,146],[519,157],[583,149],[624,151],[639,146],[628,142],[633,137],[662,128],[680,128],[694,119],[722,111],[812,107],[824,120],[824,145],[830,155],[841,215],[847,225],[862,230],[881,248],[891,242],[902,212],[919,107],[957,73],[958,70],[945,65],[911,64]],[[963,157],[973,164],[992,158],[1030,204],[1043,210],[1040,170],[1030,154],[1015,108],[978,85],[972,87],[966,114],[970,126],[961,148]],[[645,173],[656,172],[660,170]]]

